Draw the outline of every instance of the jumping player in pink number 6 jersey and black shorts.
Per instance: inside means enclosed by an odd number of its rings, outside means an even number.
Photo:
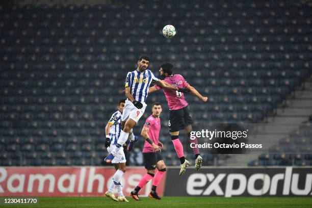
[[[172,74],[173,71],[173,65],[171,63],[165,63],[161,66],[161,69],[159,70],[161,76],[165,77],[164,82],[178,88],[187,88],[189,92],[199,99],[201,99],[203,102],[207,101],[207,97],[202,96],[194,87],[190,86],[184,79],[184,77],[180,74]],[[154,85],[153,87],[149,88],[148,93],[155,92],[157,90],[161,89],[160,86]],[[180,175],[183,175],[186,171],[186,168],[190,165],[190,162],[185,159],[184,157],[184,151],[183,151],[183,145],[181,144],[179,138],[179,131],[181,129],[185,129],[186,134],[188,135],[188,138],[190,138],[190,134],[192,132],[192,118],[189,113],[188,109],[188,102],[184,99],[183,92],[178,91],[169,91],[166,89],[163,89],[165,96],[168,101],[168,107],[170,110],[169,114],[169,132],[171,135],[171,139],[174,145],[174,149],[177,153],[178,158],[180,159],[181,165],[180,165]],[[191,140],[192,143],[198,143],[197,139]],[[199,170],[202,163],[202,158],[199,154],[199,149],[194,148],[193,149],[195,154],[195,169]]]

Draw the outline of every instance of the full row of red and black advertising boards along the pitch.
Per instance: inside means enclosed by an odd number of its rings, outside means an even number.
[[[163,196],[311,196],[311,167],[202,168],[178,176],[169,167],[158,187]],[[1,167],[0,196],[102,196],[114,174],[98,167]],[[124,194],[145,174],[141,167],[127,169]],[[147,196],[151,181],[140,191]]]

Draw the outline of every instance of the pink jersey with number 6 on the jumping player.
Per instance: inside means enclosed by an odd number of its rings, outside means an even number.
[[[186,88],[189,84],[185,81],[184,77],[180,74],[174,74],[168,76],[164,80],[166,83],[177,87],[177,88]],[[160,86],[154,85],[157,90],[161,89]],[[163,89],[165,96],[168,101],[168,106],[170,110],[179,110],[188,106],[188,102],[184,99],[184,94],[182,92]]]

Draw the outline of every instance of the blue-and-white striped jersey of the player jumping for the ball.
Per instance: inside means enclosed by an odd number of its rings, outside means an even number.
[[[148,89],[152,81],[159,81],[149,69],[143,72],[130,71],[125,80],[125,87],[130,87],[130,92],[135,100],[145,102]]]

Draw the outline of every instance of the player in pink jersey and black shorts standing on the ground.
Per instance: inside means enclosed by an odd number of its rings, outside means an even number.
[[[153,178],[152,189],[149,193],[149,197],[154,199],[161,199],[156,188],[159,185],[163,175],[166,172],[166,165],[160,154],[163,144],[159,141],[159,132],[161,129],[160,114],[162,113],[162,107],[159,102],[155,102],[152,105],[152,115],[150,115],[142,128],[141,136],[145,138],[145,144],[143,147],[144,166],[147,173],[141,178],[138,186],[130,192],[129,196],[135,200],[140,200],[138,192],[143,188],[150,179]],[[155,168],[158,169],[155,173]]]

